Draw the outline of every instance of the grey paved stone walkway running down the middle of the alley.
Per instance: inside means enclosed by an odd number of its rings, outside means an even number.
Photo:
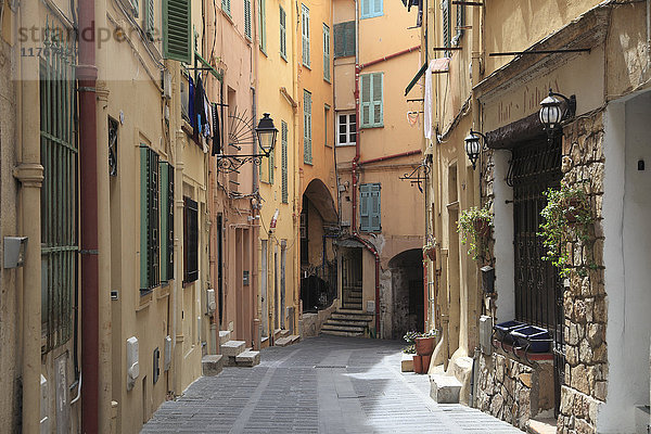
[[[322,336],[266,348],[161,406],[143,433],[522,433],[438,405],[426,375],[400,372],[400,342]]]

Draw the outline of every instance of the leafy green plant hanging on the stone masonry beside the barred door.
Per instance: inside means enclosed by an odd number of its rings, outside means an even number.
[[[580,184],[562,184],[560,189],[548,189],[544,192],[547,205],[540,212],[544,221],[538,235],[545,246],[544,260],[551,261],[567,277],[573,269],[572,243],[578,241],[590,245],[591,228],[595,222],[589,197]],[[577,268],[580,275],[586,268],[596,268],[591,261]]]

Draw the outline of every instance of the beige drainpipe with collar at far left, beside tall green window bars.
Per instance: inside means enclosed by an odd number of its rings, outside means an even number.
[[[38,2],[21,3],[21,25],[29,28],[39,23]],[[25,47],[29,41],[23,42]],[[17,115],[20,154],[13,176],[21,182],[22,232],[28,238],[25,247],[23,270],[16,271],[17,288],[22,288],[23,322],[20,342],[23,349],[23,432],[40,432],[40,370],[41,370],[41,251],[40,251],[40,190],[43,181],[43,167],[40,164],[40,116],[38,104],[38,60],[21,56],[21,91],[17,92]],[[36,218],[35,218],[36,217]],[[5,271],[7,272],[7,271]]]

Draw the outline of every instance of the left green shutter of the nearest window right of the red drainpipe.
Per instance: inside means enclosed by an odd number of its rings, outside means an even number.
[[[148,292],[161,281],[159,258],[159,164],[158,154],[140,145],[140,291]]]

